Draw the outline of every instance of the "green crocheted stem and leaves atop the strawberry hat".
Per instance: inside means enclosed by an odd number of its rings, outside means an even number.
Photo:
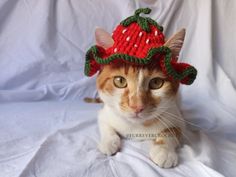
[[[133,16],[130,16],[130,17],[126,18],[120,24],[125,26],[125,27],[127,27],[131,23],[137,22],[138,25],[142,28],[142,30],[144,30],[146,32],[150,32],[151,31],[150,25],[153,25],[156,28],[158,28],[160,31],[163,31],[163,27],[160,26],[156,21],[154,21],[150,17],[142,17],[142,16],[140,16],[141,13],[150,14],[151,11],[152,10],[150,8],[140,8],[140,9],[137,9]]]

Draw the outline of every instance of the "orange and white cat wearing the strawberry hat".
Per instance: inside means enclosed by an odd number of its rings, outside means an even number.
[[[176,57],[182,48],[185,30],[173,35],[165,46]],[[112,37],[103,29],[95,32],[97,45],[109,48]],[[179,83],[170,81],[158,65],[103,66],[97,76],[97,89],[104,107],[98,123],[99,150],[112,155],[120,150],[121,138],[151,140],[150,157],[158,166],[174,167],[178,163],[176,148],[185,128],[176,105]]]

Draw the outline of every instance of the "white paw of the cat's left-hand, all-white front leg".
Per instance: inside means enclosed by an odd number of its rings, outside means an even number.
[[[118,135],[113,135],[98,144],[98,149],[106,155],[115,154],[121,146],[121,140]]]

